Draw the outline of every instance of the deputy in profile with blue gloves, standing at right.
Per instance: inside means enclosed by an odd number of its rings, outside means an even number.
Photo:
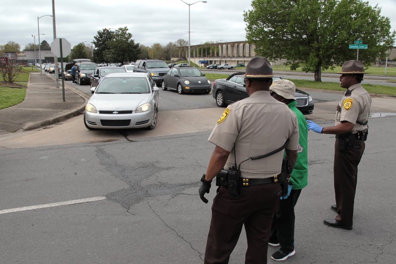
[[[337,212],[335,219],[325,219],[331,227],[352,229],[353,204],[357,183],[357,165],[363,155],[368,131],[371,98],[360,85],[363,80],[363,63],[348,60],[339,72],[340,85],[346,88],[344,97],[337,106],[336,122],[332,127],[321,127],[307,120],[308,129],[316,133],[335,134],[334,190],[336,205],[331,210]]]

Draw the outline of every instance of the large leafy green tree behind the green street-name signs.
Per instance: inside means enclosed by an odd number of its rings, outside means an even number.
[[[378,5],[362,0],[252,0],[244,20],[258,55],[286,58],[291,69],[304,63],[303,70],[321,81],[322,70],[356,57],[348,49],[354,40],[368,44],[359,52],[365,65],[392,47],[396,32],[380,13]]]

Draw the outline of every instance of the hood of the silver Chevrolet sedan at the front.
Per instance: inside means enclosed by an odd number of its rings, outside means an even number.
[[[88,103],[97,110],[133,110],[148,103],[150,94],[93,94]]]

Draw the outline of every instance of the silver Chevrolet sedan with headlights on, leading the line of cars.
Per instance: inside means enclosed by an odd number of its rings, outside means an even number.
[[[84,124],[88,129],[154,129],[158,90],[147,73],[110,73],[91,88]]]

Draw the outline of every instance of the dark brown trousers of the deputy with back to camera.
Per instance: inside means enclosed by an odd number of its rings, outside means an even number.
[[[282,193],[280,184],[241,188],[240,198],[231,196],[224,187],[218,189],[212,205],[205,264],[228,263],[243,225],[247,235],[245,263],[267,263],[271,222]]]

